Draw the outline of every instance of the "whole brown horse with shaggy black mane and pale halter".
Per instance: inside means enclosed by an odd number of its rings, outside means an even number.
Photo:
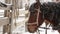
[[[43,3],[42,5],[40,3],[34,3],[31,5],[29,11],[30,11],[30,17],[28,20],[28,31],[31,33],[34,33],[37,31],[37,29],[40,27],[40,25],[45,23],[48,25],[49,23],[52,25],[53,30],[58,30],[60,33],[60,25],[59,25],[59,3],[49,2],[49,3]],[[39,9],[40,12],[36,9]],[[38,14],[39,13],[39,14]],[[38,17],[38,18],[37,18]],[[60,17],[60,16],[59,16]]]

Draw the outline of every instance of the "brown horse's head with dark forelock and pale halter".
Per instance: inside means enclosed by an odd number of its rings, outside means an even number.
[[[40,3],[34,3],[29,9],[30,17],[29,17],[29,20],[28,20],[27,28],[28,28],[28,31],[31,32],[31,33],[36,32],[38,27],[43,23],[42,13],[38,12],[36,10],[36,9],[39,9],[38,6],[40,6]],[[39,13],[39,15],[38,15],[38,13]]]

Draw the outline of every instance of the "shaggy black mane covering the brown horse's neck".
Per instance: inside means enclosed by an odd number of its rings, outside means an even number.
[[[60,30],[60,2],[48,2],[41,5],[41,12],[44,19],[53,21],[53,29]]]

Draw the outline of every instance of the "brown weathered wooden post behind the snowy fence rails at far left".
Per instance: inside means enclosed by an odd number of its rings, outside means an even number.
[[[11,3],[10,0],[5,0],[5,2],[8,4]],[[4,17],[8,17],[9,18],[9,24],[11,24],[11,12],[10,12],[10,10],[5,10]],[[6,32],[8,34],[11,34],[11,25],[9,25],[9,24],[3,26],[3,34],[5,34]]]

